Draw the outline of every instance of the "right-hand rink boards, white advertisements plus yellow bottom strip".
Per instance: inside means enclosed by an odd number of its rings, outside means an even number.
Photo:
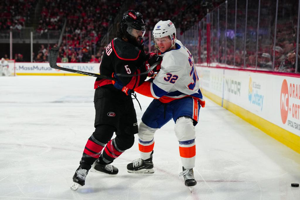
[[[300,153],[300,78],[197,66],[205,97]]]

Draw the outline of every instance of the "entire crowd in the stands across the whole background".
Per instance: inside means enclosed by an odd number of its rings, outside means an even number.
[[[49,30],[64,31],[61,45],[59,47],[58,62],[101,62],[104,47],[100,41],[107,33],[110,25],[118,14],[126,0],[46,0],[41,9],[41,19],[37,32],[44,34]],[[247,18],[247,42],[244,52],[244,22],[246,2],[238,1],[237,32],[232,36],[235,23],[235,1],[228,1],[227,33],[225,33],[225,6],[224,0],[196,1],[196,0],[166,0],[153,2],[151,0],[135,0],[129,2],[126,10],[140,11],[146,21],[146,34],[144,36],[145,52],[156,51],[148,49],[149,31],[152,31],[159,20],[172,20],[178,35],[190,29],[196,22],[206,19],[206,13],[211,12],[214,20],[211,39],[211,62],[226,63],[238,67],[272,70],[283,72],[295,72],[296,59],[296,29],[298,9],[293,6],[292,0],[279,4],[276,30],[276,44],[274,47],[274,18],[276,5],[271,1],[261,2],[259,21],[259,46],[256,52],[256,27],[257,9],[255,1],[248,1]],[[28,20],[29,11],[34,10],[37,0],[12,0],[4,1],[0,5],[0,30],[21,29]],[[124,4],[125,5],[125,4]],[[127,4],[126,4],[127,5]],[[218,7],[219,6],[219,7]],[[216,30],[217,9],[220,11],[220,36]],[[22,9],[17,9],[22,8]],[[249,17],[251,16],[251,17]],[[65,29],[63,29],[66,22]],[[115,25],[115,24],[113,24]],[[271,29],[270,29],[271,27]],[[225,46],[226,35],[226,46]],[[235,41],[234,41],[235,39]],[[218,41],[218,46],[217,46]],[[236,44],[234,49],[234,42]],[[57,46],[55,44],[54,46]],[[53,47],[41,45],[41,48],[33,55],[35,62],[47,62],[48,50]],[[201,62],[206,60],[206,44],[201,46]],[[219,54],[217,54],[219,52]],[[244,64],[245,54],[245,64]],[[273,56],[275,56],[273,65]],[[299,56],[298,56],[299,58]],[[16,54],[15,59],[22,61],[22,55]],[[300,59],[300,58],[299,58]],[[300,63],[300,62],[298,62]],[[297,70],[298,72],[300,69]]]

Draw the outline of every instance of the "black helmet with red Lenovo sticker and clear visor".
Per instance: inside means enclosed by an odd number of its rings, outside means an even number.
[[[128,32],[130,35],[138,38],[144,36],[146,32],[145,26],[143,15],[134,10],[126,11],[120,21],[120,27],[124,34]]]

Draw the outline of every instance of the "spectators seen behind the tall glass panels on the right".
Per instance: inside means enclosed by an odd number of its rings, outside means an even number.
[[[229,1],[230,3],[234,1]],[[239,4],[239,3],[238,3]],[[278,5],[278,17],[276,27],[276,41],[274,46],[274,27],[276,4],[271,1],[264,1],[261,5],[259,20],[259,38],[258,51],[256,52],[256,29],[257,29],[257,9],[255,2],[248,4],[246,48],[244,52],[244,29],[245,29],[245,4],[240,2],[240,9],[237,12],[237,32],[236,38],[230,37],[230,32],[234,30],[234,17],[227,18],[227,33],[225,33],[225,18],[223,17],[224,9],[220,6],[220,38],[218,41],[217,27],[212,27],[212,54],[211,62],[226,63],[229,66],[256,68],[260,70],[273,70],[280,72],[294,73],[300,72],[300,56],[298,55],[298,66],[296,61],[296,38],[297,38],[297,16],[298,7],[293,6],[292,1],[286,1],[285,4]],[[230,5],[228,5],[230,8]],[[244,8],[244,9],[242,9]],[[235,12],[234,9],[233,14]],[[232,10],[228,10],[231,13]],[[233,25],[233,26],[232,26]],[[232,30],[233,29],[233,30]],[[225,46],[226,35],[226,46]],[[234,35],[233,35],[234,36]],[[235,39],[235,51],[234,51]],[[217,46],[219,42],[219,48]],[[300,46],[300,44],[299,44]],[[206,43],[201,46],[201,62],[206,62]],[[226,51],[226,52],[225,52]],[[205,52],[205,53],[204,53]],[[218,54],[219,53],[219,54]],[[244,56],[245,54],[245,56]],[[256,65],[257,56],[257,65]],[[245,63],[244,63],[245,57]],[[274,65],[273,65],[274,57]]]

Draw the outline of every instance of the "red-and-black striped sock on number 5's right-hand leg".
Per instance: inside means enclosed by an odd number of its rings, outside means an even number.
[[[115,139],[112,139],[107,143],[104,148],[103,153],[100,157],[100,163],[102,164],[110,164],[114,161],[114,159],[118,158],[124,151],[120,150],[117,145]]]

